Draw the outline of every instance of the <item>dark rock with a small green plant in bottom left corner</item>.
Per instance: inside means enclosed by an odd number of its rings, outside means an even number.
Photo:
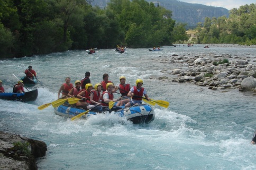
[[[46,151],[42,141],[0,132],[0,169],[38,169],[35,159]]]

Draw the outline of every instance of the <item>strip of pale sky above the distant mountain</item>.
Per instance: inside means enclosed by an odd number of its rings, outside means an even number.
[[[216,7],[223,7],[228,10],[233,8],[239,8],[245,4],[255,4],[256,0],[178,0],[181,2],[186,3],[193,3],[193,4],[203,4],[203,5],[210,5]]]

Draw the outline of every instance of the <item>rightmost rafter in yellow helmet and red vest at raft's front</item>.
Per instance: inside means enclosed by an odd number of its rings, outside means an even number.
[[[143,81],[142,79],[136,80],[136,86],[130,89],[130,92],[127,94],[127,97],[132,97],[129,103],[126,103],[124,107],[130,107],[133,105],[141,105],[142,104],[142,96],[144,95],[150,101],[149,96],[147,95],[147,91],[144,87],[142,87]]]

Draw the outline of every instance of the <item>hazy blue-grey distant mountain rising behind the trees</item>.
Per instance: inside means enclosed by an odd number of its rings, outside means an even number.
[[[99,6],[105,8],[110,0],[95,0],[91,4],[93,6]],[[180,2],[177,0],[147,0],[153,2],[154,5],[164,7],[172,11],[172,19],[176,22],[186,23],[186,27],[196,27],[198,22],[204,22],[205,17],[228,17],[228,10],[222,7],[207,6],[202,4],[191,4]]]

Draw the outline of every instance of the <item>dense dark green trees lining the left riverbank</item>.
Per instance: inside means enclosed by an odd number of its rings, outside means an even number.
[[[84,0],[2,0],[0,57],[68,49],[152,47],[188,39],[171,11],[144,0],[112,0],[105,9]]]

